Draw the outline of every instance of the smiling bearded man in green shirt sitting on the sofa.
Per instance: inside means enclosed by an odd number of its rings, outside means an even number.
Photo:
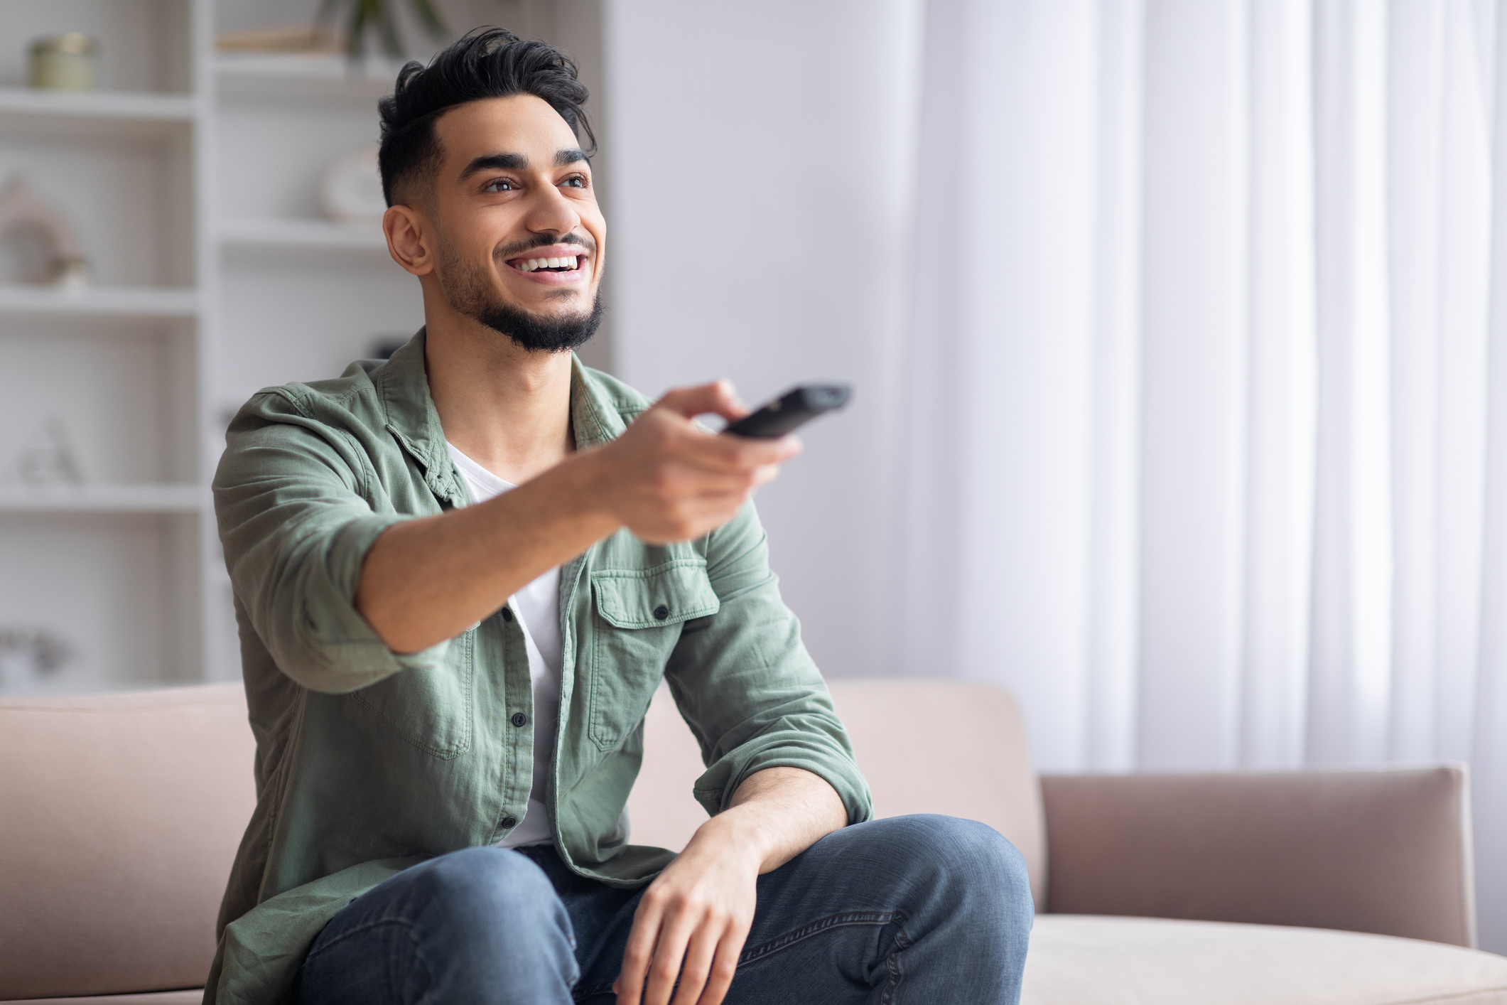
[[[797,443],[693,425],[744,414],[726,384],[651,404],[570,351],[607,252],[585,99],[500,30],[405,66],[383,226],[425,327],[231,425],[258,806],[205,1000],[1014,1002],[1020,856],[868,821],[779,600],[749,493]],[[662,678],[707,764],[678,856],[622,812]]]

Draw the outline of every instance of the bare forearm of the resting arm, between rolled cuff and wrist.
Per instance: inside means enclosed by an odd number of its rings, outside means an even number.
[[[826,779],[805,768],[773,767],[746,777],[723,812],[696,839],[729,842],[772,872],[847,824],[847,809]]]

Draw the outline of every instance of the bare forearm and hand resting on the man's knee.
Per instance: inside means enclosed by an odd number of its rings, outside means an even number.
[[[643,892],[618,1005],[666,1005],[677,978],[674,1005],[717,1005],[754,924],[758,877],[845,824],[842,799],[818,774],[772,767],[744,779]]]

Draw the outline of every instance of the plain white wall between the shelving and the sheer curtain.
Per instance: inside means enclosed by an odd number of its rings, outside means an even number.
[[[604,5],[616,372],[650,395],[728,377],[752,404],[815,378],[853,405],[760,493],[806,645],[892,669],[892,360],[912,205],[912,0]]]

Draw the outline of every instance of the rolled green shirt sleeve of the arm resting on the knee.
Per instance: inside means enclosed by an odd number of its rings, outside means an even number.
[[[665,672],[707,765],[696,800],[719,814],[755,771],[797,767],[832,785],[850,824],[868,820],[868,784],[779,597],[754,503],[710,536],[707,576],[720,609],[686,624]]]

